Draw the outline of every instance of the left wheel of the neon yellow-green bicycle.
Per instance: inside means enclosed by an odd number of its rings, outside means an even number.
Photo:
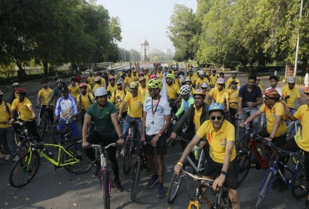
[[[10,185],[13,187],[22,187],[28,184],[35,176],[39,166],[39,154],[36,152],[27,152],[14,164],[9,174]]]

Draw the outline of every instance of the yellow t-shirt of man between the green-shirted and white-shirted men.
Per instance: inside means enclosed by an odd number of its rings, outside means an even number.
[[[143,116],[143,104],[145,97],[142,94],[133,97],[131,93],[128,93],[124,99],[128,104],[128,115],[131,117],[142,117]]]

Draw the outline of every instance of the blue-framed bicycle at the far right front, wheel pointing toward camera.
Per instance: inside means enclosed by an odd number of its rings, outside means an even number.
[[[264,138],[263,140],[266,141],[266,139]],[[291,191],[294,198],[301,199],[306,197],[307,196],[306,171],[304,165],[300,161],[301,157],[293,152],[286,152],[276,147],[273,143],[269,141],[266,141],[266,143],[271,149],[275,151],[276,158],[274,160],[273,165],[269,169],[267,169],[264,178],[261,182],[260,189],[258,192],[259,198],[255,205],[255,209],[260,208],[262,200],[269,194],[277,173],[279,173],[279,177],[283,180],[286,189]],[[280,157],[286,155],[297,158],[297,164],[295,165],[295,168],[293,170],[279,160]],[[282,165],[285,169],[287,169],[289,173],[291,173],[291,177],[285,178],[283,173],[280,171],[278,165]]]

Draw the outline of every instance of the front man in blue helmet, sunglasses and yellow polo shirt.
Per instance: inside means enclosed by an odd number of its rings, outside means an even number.
[[[234,146],[235,127],[224,119],[224,106],[222,104],[211,104],[208,108],[208,114],[210,120],[206,120],[197,130],[175,165],[174,171],[177,175],[179,174],[186,157],[193,147],[200,142],[201,138],[205,136],[209,144],[210,158],[205,163],[203,177],[215,178],[220,173],[219,177],[215,179],[212,188],[216,190],[217,187],[224,184],[229,190],[232,208],[240,209],[237,190],[236,150]],[[205,143],[201,141],[200,145]]]

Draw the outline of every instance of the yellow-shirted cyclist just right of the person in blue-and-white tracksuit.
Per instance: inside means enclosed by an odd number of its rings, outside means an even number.
[[[84,116],[91,104],[94,104],[94,97],[93,95],[87,91],[88,86],[85,83],[81,83],[79,85],[80,94],[77,96],[77,108],[80,110],[81,122],[82,126],[84,124]]]

